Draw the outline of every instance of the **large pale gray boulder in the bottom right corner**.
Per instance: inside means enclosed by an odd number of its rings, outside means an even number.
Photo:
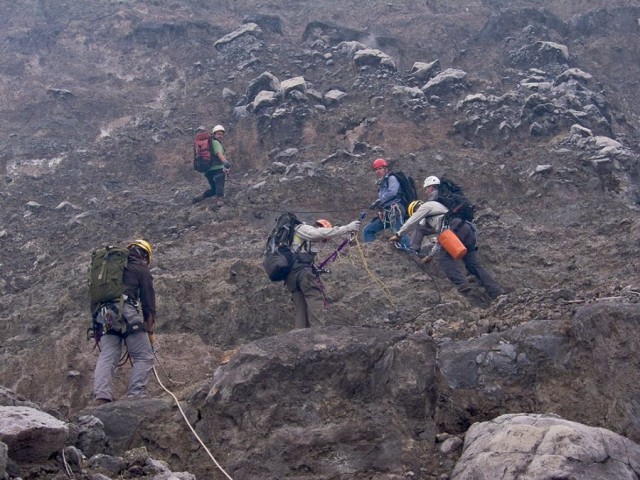
[[[589,478],[640,475],[640,446],[604,428],[555,415],[510,414],[467,431],[452,480]]]

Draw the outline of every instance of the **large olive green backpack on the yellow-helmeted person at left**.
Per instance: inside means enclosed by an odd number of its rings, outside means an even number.
[[[91,313],[105,302],[118,300],[124,293],[122,281],[129,260],[129,249],[106,245],[91,253],[89,265],[89,300]]]

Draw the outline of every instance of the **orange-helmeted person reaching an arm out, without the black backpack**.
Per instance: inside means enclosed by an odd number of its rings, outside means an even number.
[[[325,298],[320,281],[321,271],[315,265],[318,253],[314,242],[326,241],[339,235],[347,235],[360,229],[356,220],[342,227],[334,227],[328,220],[319,219],[314,225],[300,223],[295,227],[291,251],[294,254],[291,272],[284,280],[291,292],[295,307],[294,328],[325,325]]]

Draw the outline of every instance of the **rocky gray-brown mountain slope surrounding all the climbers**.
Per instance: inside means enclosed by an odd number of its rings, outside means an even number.
[[[187,421],[235,479],[640,475],[637,4],[1,9],[0,478],[227,478]],[[192,205],[193,134],[218,123],[225,203]],[[507,294],[470,303],[381,234],[330,264],[330,325],[291,331],[273,220],[352,221],[378,157],[464,186]],[[90,252],[140,236],[186,418],[155,379],[88,407]]]

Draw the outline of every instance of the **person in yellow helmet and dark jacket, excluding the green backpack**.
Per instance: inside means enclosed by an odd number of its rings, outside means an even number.
[[[96,321],[106,325],[94,371],[95,405],[113,401],[113,376],[121,359],[122,344],[126,345],[133,364],[127,398],[144,397],[153,369],[156,298],[149,270],[151,244],[134,240],[127,248],[129,257],[122,275],[122,299],[101,303],[94,312]]]

